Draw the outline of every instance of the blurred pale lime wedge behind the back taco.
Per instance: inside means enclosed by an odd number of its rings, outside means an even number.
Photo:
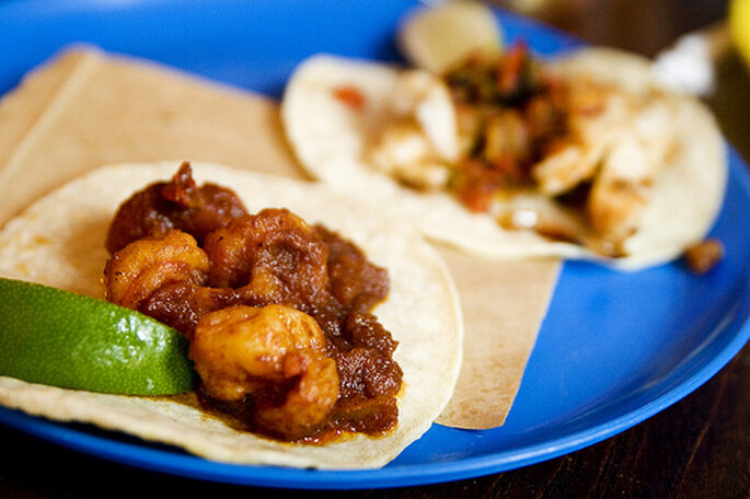
[[[503,34],[492,8],[455,1],[408,15],[401,25],[399,43],[409,62],[440,74],[473,51],[500,53]]]

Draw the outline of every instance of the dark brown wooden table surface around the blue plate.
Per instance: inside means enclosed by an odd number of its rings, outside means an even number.
[[[653,56],[723,18],[724,2],[575,0],[538,12],[591,43]],[[750,158],[750,79],[736,56],[708,100]],[[349,492],[212,484],[114,464],[0,426],[0,498],[750,498],[750,346],[684,399],[615,437],[524,468],[448,484]],[[165,496],[166,497],[166,496]]]

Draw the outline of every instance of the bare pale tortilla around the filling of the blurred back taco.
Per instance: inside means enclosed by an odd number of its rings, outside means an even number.
[[[584,49],[554,62],[573,78],[589,76],[623,83],[639,92],[656,82],[650,65],[612,49]],[[424,233],[463,251],[487,257],[562,257],[604,262],[639,269],[668,262],[701,241],[724,195],[727,163],[724,142],[711,113],[685,96],[667,95],[674,109],[674,154],[653,186],[639,230],[624,243],[628,256],[605,259],[579,245],[554,242],[532,231],[507,231],[485,214],[471,213],[442,193],[402,187],[376,171],[364,151],[389,118],[400,68],[335,56],[313,56],[292,76],[281,104],[285,129],[308,172],[337,188],[397,207]],[[354,85],[365,95],[365,111],[335,98],[333,90]]]

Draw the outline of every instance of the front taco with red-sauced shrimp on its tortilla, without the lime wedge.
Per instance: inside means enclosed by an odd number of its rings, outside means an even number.
[[[377,467],[418,439],[461,362],[461,313],[437,253],[322,185],[176,166],[107,166],[53,192],[0,232],[0,275],[174,327],[189,340],[194,392],[0,376],[0,403],[235,463]]]

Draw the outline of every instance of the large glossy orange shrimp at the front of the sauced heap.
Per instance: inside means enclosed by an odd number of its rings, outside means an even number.
[[[291,307],[212,312],[198,323],[189,357],[206,394],[227,402],[254,396],[254,422],[287,439],[324,423],[338,399],[336,362],[320,326]]]

